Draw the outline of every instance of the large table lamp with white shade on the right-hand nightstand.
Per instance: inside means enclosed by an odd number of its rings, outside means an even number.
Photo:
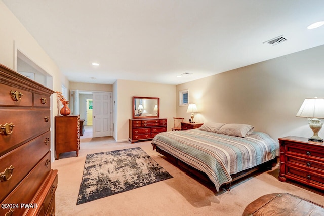
[[[320,123],[318,118],[324,118],[324,98],[306,98],[296,117],[308,118],[309,127],[314,133],[308,139],[309,141],[323,142],[323,139],[318,136],[323,123]]]

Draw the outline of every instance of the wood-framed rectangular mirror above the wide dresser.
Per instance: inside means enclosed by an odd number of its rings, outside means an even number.
[[[159,118],[160,98],[133,97],[133,118]]]

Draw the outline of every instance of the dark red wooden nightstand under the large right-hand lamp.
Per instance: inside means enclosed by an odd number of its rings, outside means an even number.
[[[324,144],[303,137],[279,138],[279,181],[288,179],[324,190]]]

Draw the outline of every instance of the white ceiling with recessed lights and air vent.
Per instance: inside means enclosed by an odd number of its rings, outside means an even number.
[[[323,0],[2,1],[74,82],[180,84],[324,44]]]

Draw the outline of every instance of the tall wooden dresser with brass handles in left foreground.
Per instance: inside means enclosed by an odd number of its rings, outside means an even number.
[[[50,95],[0,65],[0,215],[54,215]]]

